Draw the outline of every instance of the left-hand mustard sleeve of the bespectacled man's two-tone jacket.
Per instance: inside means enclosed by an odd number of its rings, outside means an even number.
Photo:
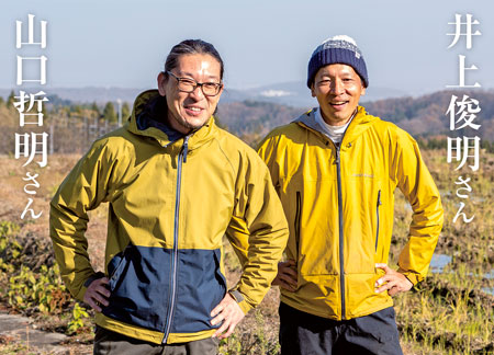
[[[88,211],[106,201],[114,162],[104,141],[97,141],[58,187],[50,203],[49,234],[61,278],[70,294],[83,299],[85,282],[94,278],[85,237]]]

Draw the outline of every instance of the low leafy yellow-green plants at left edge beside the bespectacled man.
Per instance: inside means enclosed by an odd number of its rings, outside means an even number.
[[[0,222],[0,298],[37,319],[52,318],[68,334],[90,333],[88,311],[75,304],[64,285],[52,247],[32,234],[19,237],[15,224]]]

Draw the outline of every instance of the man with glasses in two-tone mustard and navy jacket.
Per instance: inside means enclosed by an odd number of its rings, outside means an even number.
[[[220,129],[223,61],[176,45],[124,127],[98,139],[52,201],[50,236],[70,293],[96,311],[94,354],[216,354],[277,274],[288,226],[268,169]],[[83,232],[109,203],[105,272]],[[226,286],[223,236],[244,272]],[[248,248],[245,241],[248,240]]]

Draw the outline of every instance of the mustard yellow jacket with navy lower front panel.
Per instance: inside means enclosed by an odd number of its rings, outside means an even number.
[[[50,236],[63,278],[82,300],[85,283],[96,275],[85,238],[88,211],[109,203],[111,297],[96,322],[159,344],[215,331],[210,312],[227,287],[225,233],[244,265],[235,287],[239,306],[247,312],[259,304],[276,276],[288,226],[256,151],[213,117],[170,139],[146,124],[145,107],[157,96],[141,94],[130,122],[98,139],[68,174],[50,204]],[[239,249],[239,238],[248,239],[248,249]]]

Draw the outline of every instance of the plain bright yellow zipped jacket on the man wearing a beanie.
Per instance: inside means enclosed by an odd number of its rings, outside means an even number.
[[[439,192],[416,141],[358,107],[340,148],[322,134],[314,111],[274,129],[260,144],[290,228],[287,256],[296,261],[297,288],[281,300],[335,320],[392,306],[375,294],[388,263],[394,190],[414,210],[400,271],[414,284],[426,274],[442,226]]]

